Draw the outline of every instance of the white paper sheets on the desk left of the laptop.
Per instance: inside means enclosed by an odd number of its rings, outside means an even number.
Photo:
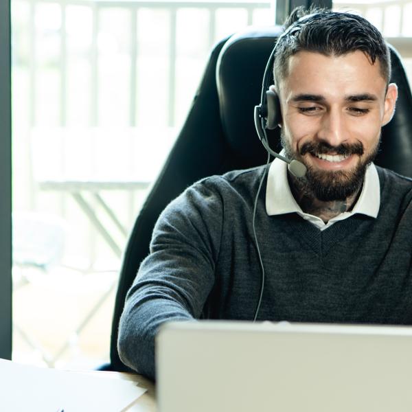
[[[118,412],[144,392],[133,380],[104,372],[45,369],[0,359],[0,411]]]

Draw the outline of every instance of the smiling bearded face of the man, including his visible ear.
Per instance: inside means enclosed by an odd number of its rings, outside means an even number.
[[[391,119],[396,84],[363,52],[324,56],[298,52],[279,83],[282,144],[306,165],[306,183],[322,201],[343,200],[363,181]]]

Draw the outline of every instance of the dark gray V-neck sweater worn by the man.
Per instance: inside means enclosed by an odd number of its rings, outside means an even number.
[[[126,365],[155,377],[155,335],[165,321],[253,319],[261,270],[252,214],[262,172],[203,179],[163,211],[119,325]],[[412,180],[378,174],[378,218],[356,214],[324,231],[297,214],[268,216],[261,191],[258,320],[412,324]]]

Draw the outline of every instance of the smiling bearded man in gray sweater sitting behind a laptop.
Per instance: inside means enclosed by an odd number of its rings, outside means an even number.
[[[387,46],[359,16],[299,13],[272,89],[284,154],[308,172],[275,159],[255,218],[263,167],[203,179],[163,211],[119,325],[141,374],[155,377],[170,320],[412,323],[412,181],[371,163],[397,98]]]

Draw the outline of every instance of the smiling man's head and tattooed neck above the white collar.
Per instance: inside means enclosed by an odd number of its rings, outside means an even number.
[[[274,72],[282,104],[282,145],[287,157],[308,169],[305,179],[290,175],[290,187],[301,208],[325,223],[357,200],[367,166],[378,152],[380,128],[391,119],[398,95],[396,84],[389,84],[389,53],[377,30],[371,27],[375,36],[369,38],[348,36],[340,43],[336,37],[325,44],[319,35],[360,20],[328,16],[322,33],[308,25],[310,16],[304,18],[306,32],[299,32],[299,41],[307,47],[282,38],[289,45],[278,45]],[[294,48],[303,50],[293,54]],[[376,172],[370,173],[376,181]]]

